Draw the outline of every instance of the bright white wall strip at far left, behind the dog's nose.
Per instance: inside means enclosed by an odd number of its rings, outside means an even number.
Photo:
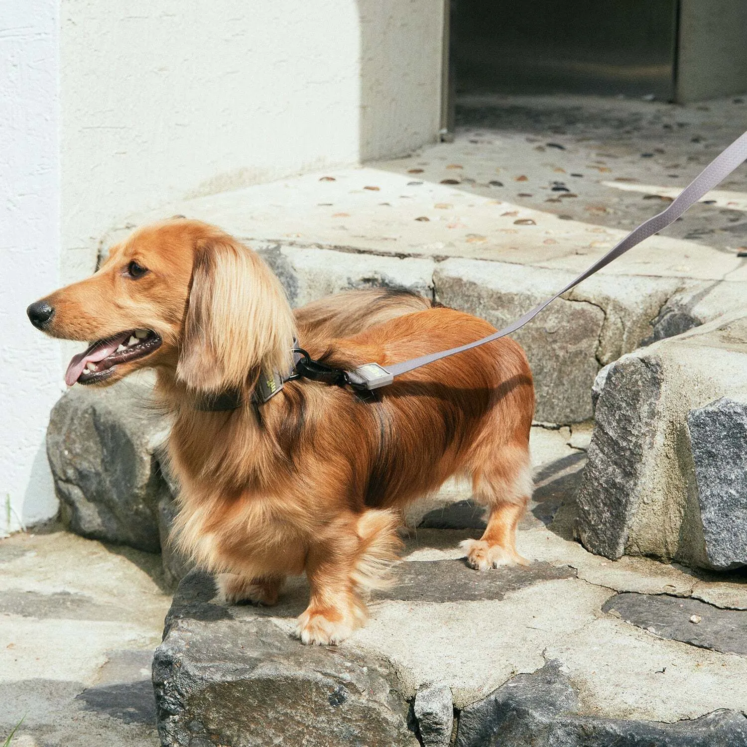
[[[0,534],[54,515],[58,347],[25,307],[59,279],[58,0],[0,3]]]

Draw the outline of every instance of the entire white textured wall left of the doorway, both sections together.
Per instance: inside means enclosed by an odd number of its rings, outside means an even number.
[[[0,3],[0,531],[57,508],[60,346],[25,306],[128,215],[436,140],[443,28],[444,0]]]

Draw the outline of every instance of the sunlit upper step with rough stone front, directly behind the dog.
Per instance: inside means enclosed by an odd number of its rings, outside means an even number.
[[[175,202],[131,216],[104,250],[135,226],[182,214],[257,249],[294,306],[349,288],[404,286],[501,326],[624,235],[414,179],[405,166],[330,170]],[[600,368],[737,308],[746,291],[736,254],[662,236],[631,250],[516,333],[535,376],[537,420],[588,420]]]

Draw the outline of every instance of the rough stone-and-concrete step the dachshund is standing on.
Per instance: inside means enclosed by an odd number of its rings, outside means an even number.
[[[418,530],[367,626],[336,647],[291,635],[303,580],[265,608],[226,606],[188,575],[154,659],[164,747],[747,745],[747,612],[688,598],[728,584],[610,563],[539,524],[518,533],[530,566],[480,573],[456,547],[477,534]],[[694,609],[701,636],[686,634]]]

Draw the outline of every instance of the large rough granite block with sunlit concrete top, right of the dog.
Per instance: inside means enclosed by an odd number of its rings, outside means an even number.
[[[747,317],[737,312],[605,372],[577,496],[587,548],[747,565],[746,371]]]

